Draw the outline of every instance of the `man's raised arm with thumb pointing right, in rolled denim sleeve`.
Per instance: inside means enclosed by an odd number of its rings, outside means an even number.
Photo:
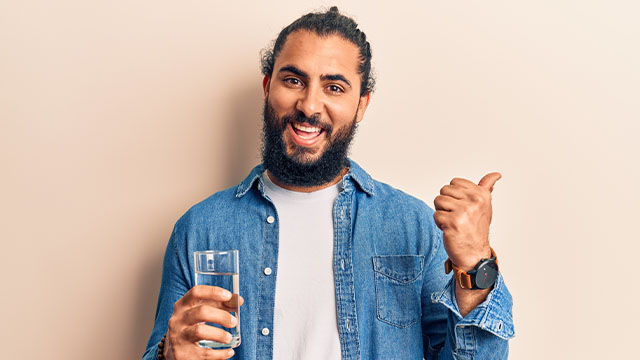
[[[423,306],[426,359],[507,358],[508,339],[513,337],[512,299],[502,277],[498,275],[489,289],[471,290],[463,289],[453,277],[444,275],[447,258],[466,272],[481,259],[491,257],[491,191],[500,177],[499,173],[488,174],[478,185],[453,179],[434,201],[434,220],[442,230],[439,234],[442,241],[438,243],[441,246],[430,262],[432,269],[428,273],[441,279],[441,287],[431,293],[430,299],[439,308]],[[426,292],[434,291],[433,280],[424,284],[431,286]],[[436,309],[445,313],[444,333],[432,328],[439,322],[434,319],[441,318]]]

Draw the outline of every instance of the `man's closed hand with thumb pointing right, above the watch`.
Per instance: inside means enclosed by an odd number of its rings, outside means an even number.
[[[440,189],[433,201],[433,218],[444,233],[444,248],[451,261],[465,271],[473,269],[480,259],[491,257],[491,192],[501,177],[493,172],[477,185],[455,178]]]

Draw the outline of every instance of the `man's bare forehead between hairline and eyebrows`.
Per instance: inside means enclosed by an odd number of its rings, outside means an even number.
[[[339,35],[318,36],[298,30],[287,37],[274,64],[274,74],[287,65],[294,65],[309,76],[342,74],[349,80],[358,79],[360,50]]]

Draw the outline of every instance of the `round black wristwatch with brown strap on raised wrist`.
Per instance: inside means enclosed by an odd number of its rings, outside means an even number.
[[[451,259],[444,263],[444,271],[448,274],[453,270],[453,276],[463,289],[488,289],[498,278],[498,258],[491,249],[491,258],[481,259],[473,270],[464,271],[454,264]]]

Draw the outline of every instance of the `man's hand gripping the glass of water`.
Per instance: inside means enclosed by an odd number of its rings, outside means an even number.
[[[198,285],[191,288],[173,306],[164,356],[168,360],[228,359],[233,356],[231,349],[205,349],[198,341],[229,343],[231,334],[205,322],[227,328],[236,326],[238,320],[229,312],[237,311],[243,302],[242,297],[219,287]]]

